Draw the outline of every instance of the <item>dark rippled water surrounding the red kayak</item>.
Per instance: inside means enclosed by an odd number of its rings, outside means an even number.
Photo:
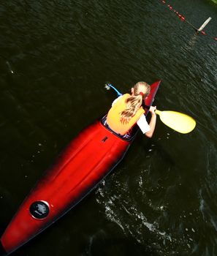
[[[138,80],[155,104],[197,120],[157,122],[121,165],[14,255],[217,255],[217,6],[170,1],[29,0],[0,4],[0,231],[53,159]],[[88,157],[87,159],[88,160]]]

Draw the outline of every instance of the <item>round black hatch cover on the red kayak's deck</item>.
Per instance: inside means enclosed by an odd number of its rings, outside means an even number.
[[[32,217],[36,219],[45,219],[49,214],[49,207],[47,206],[47,203],[43,201],[36,201],[31,204],[29,211]]]

